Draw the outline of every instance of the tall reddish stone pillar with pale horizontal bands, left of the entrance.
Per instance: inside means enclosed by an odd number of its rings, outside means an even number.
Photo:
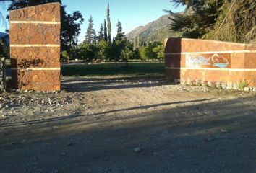
[[[60,4],[12,10],[9,17],[12,87],[59,91]]]

